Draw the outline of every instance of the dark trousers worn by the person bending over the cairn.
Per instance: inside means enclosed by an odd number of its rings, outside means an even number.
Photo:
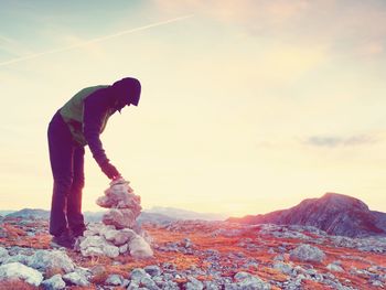
[[[49,126],[49,148],[54,186],[51,203],[50,234],[60,236],[68,229],[84,228],[82,190],[85,185],[85,149],[75,144],[58,111]]]

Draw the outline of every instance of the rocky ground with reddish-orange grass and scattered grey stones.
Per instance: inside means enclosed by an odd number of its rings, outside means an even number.
[[[0,223],[0,289],[386,288],[386,238],[380,237],[178,221],[143,224],[154,255],[135,259],[52,249],[43,219]]]

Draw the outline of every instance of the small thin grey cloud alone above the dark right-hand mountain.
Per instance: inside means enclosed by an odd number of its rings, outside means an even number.
[[[351,137],[336,137],[336,136],[311,136],[307,139],[305,143],[315,147],[352,147],[352,146],[363,146],[373,144],[377,142],[373,136],[367,135],[356,135]]]

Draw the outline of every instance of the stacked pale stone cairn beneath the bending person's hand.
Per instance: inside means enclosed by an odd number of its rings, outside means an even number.
[[[135,258],[150,258],[153,251],[150,237],[137,224],[141,213],[140,196],[133,193],[129,182],[124,179],[110,182],[105,195],[96,203],[109,208],[101,223],[89,224],[79,238],[76,248],[85,257],[131,255]]]

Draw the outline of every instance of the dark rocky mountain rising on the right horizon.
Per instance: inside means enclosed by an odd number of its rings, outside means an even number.
[[[349,237],[386,235],[386,213],[369,211],[362,201],[339,193],[308,198],[288,210],[230,217],[227,221],[242,224],[307,225],[330,235]]]

